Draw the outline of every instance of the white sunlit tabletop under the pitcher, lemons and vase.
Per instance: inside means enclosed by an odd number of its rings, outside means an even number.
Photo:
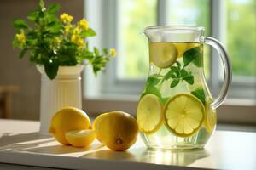
[[[80,149],[38,134],[39,122],[0,119],[0,162],[67,169],[256,169],[256,133],[216,131],[203,150]]]

